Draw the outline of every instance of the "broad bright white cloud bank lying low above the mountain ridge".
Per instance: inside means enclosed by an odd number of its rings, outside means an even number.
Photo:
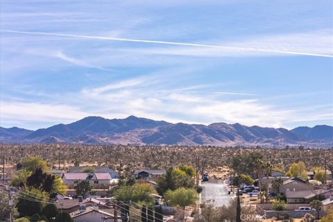
[[[2,101],[2,123],[9,123],[9,120],[12,123],[19,121],[24,123],[26,119],[37,122],[69,123],[89,115],[112,119],[134,114],[173,123],[239,122],[248,126],[285,127],[291,122],[333,118],[332,108],[329,105],[321,109],[305,107],[292,110],[279,108],[269,101],[260,99],[260,96],[246,93],[230,92],[227,95],[220,95],[206,94],[205,91],[200,93],[200,90],[196,90],[196,93],[186,93],[178,92],[178,88],[159,92],[156,87],[163,85],[163,80],[146,84],[145,80],[148,78],[152,77],[141,76],[115,81],[110,85],[85,88],[81,92],[53,95],[53,103],[49,102],[49,97],[40,103]],[[187,86],[189,89],[198,87],[205,89],[209,85]],[[253,98],[247,99],[249,95]]]

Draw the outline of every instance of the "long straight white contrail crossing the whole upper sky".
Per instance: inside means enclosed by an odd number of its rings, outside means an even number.
[[[247,47],[233,47],[233,46],[216,46],[210,44],[195,44],[186,42],[167,42],[167,41],[157,41],[157,40],[134,40],[134,39],[124,39],[119,37],[104,37],[104,36],[94,36],[94,35],[72,35],[72,34],[62,34],[62,33],[42,33],[42,32],[28,32],[28,31],[12,31],[12,30],[1,30],[3,33],[21,33],[21,34],[31,34],[31,35],[51,35],[51,36],[61,36],[61,37],[80,37],[85,39],[94,40],[113,40],[122,42],[143,42],[143,43],[153,43],[153,44],[169,44],[178,46],[195,46],[203,48],[213,48],[213,49],[231,49],[236,51],[257,51],[265,53],[280,53],[280,54],[290,54],[299,56],[318,56],[318,57],[328,57],[333,58],[333,55],[319,54],[319,53],[305,53],[299,51],[281,51],[273,49],[257,49],[257,48],[247,48]]]

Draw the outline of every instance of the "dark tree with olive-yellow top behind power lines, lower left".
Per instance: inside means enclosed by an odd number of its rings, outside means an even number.
[[[19,191],[17,198],[17,211],[23,216],[40,214],[49,200],[49,194],[35,188],[23,188]]]

